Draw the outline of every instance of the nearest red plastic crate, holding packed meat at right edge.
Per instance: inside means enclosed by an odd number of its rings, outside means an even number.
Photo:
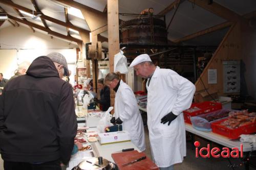
[[[220,125],[222,122],[227,120],[228,118],[219,120],[211,124],[212,132],[218,133],[220,135],[226,136],[229,139],[237,139],[242,134],[251,134],[256,132],[256,123],[250,123],[238,128],[229,129],[225,126]]]

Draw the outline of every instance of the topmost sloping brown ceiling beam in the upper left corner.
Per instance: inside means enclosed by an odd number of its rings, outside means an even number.
[[[19,6],[19,5],[14,4],[14,3],[10,2],[10,1],[7,1],[7,0],[0,0],[0,3],[3,3],[3,4],[8,5],[8,6],[11,6],[11,7],[16,8],[18,10],[22,10],[22,11],[28,12],[30,14],[33,13],[32,10],[30,10],[28,8],[25,8],[25,7],[22,7],[22,6]],[[40,18],[43,18],[43,19],[49,20],[51,22],[57,23],[58,25],[61,25],[61,26],[64,26],[64,27],[69,27],[69,28],[77,30],[79,32],[90,33],[90,31],[81,29],[79,27],[76,27],[76,26],[72,25],[72,23],[70,23],[70,22],[66,23],[66,22],[60,21],[58,19],[46,16],[43,13],[41,13],[41,14],[42,15],[40,16]]]

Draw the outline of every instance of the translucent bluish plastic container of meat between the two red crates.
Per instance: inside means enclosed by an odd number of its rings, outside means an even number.
[[[236,112],[231,109],[221,109],[206,114],[190,117],[192,126],[200,131],[211,131],[211,123],[228,117],[229,112]]]

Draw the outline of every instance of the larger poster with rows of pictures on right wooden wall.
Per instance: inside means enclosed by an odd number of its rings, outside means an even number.
[[[240,92],[240,61],[223,61],[223,92]]]

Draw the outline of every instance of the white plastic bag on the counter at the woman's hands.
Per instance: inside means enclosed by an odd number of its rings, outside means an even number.
[[[113,110],[113,107],[110,107],[107,111],[105,111],[105,113],[102,115],[102,118],[99,120],[99,124],[97,126],[99,133],[104,133],[106,127],[113,126],[113,124],[110,123],[112,118],[112,114],[110,114],[111,110]]]

